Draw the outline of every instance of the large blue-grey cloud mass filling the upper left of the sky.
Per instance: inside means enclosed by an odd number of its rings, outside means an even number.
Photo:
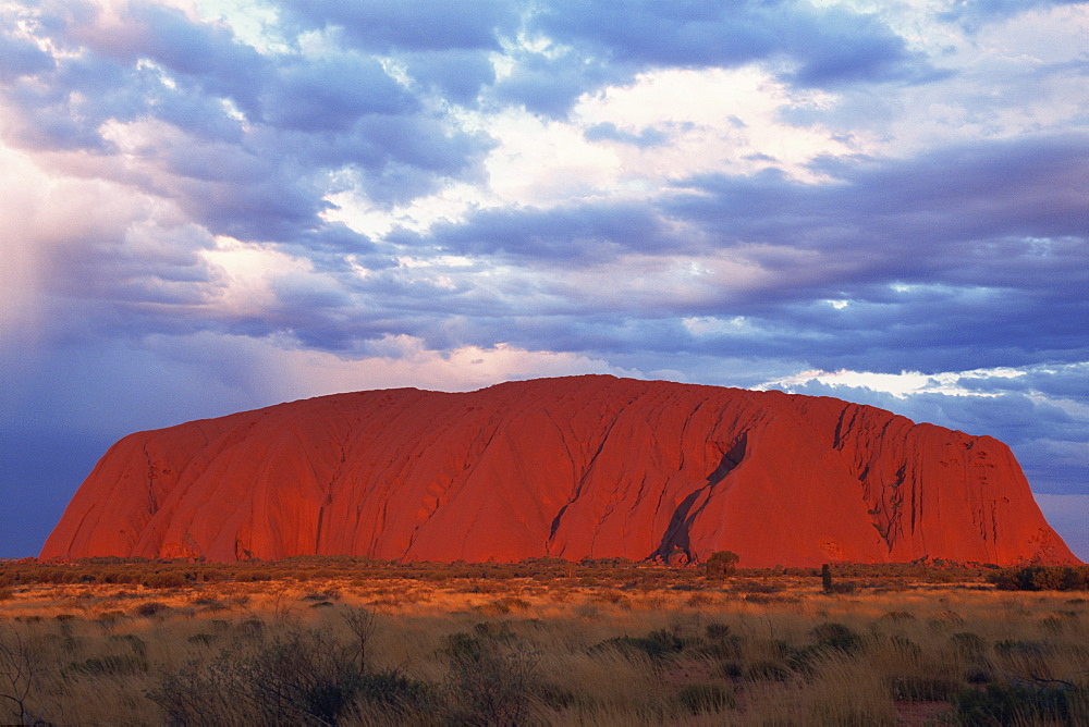
[[[0,83],[17,111],[9,140],[29,150],[91,150],[103,161],[98,174],[169,197],[213,235],[287,245],[319,267],[335,267],[338,254],[370,254],[374,246],[322,219],[326,195],[338,190],[331,175],[341,188],[353,185],[380,205],[405,202],[449,178],[478,174],[491,146],[486,136],[423,110],[369,56],[262,54],[228,26],[194,22],[174,9],[134,2],[117,10],[110,17],[77,1],[26,11],[30,32],[64,51],[56,59],[26,38],[3,36],[0,53],[10,62]],[[370,10],[387,20],[395,14],[392,4]],[[386,29],[374,33],[407,42],[416,12],[406,10],[396,27],[383,21]],[[478,20],[488,25],[492,15]],[[488,33],[474,35],[462,20],[444,22],[433,42],[416,46],[430,48],[443,37],[494,46]],[[481,57],[467,52],[437,51],[415,63],[436,87],[462,84],[468,94],[476,82],[466,85],[462,76],[480,83],[490,76]],[[456,62],[439,67],[442,60]],[[130,149],[127,168],[105,163],[119,151],[103,136],[111,122],[156,121],[169,126]]]

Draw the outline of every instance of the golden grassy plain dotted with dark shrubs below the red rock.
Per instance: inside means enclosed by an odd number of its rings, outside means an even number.
[[[0,723],[1089,724],[1069,570],[9,562]]]

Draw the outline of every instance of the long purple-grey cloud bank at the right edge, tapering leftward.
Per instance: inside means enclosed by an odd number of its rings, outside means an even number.
[[[949,243],[1089,233],[1089,198],[1080,187],[1089,136],[1082,134],[964,144],[907,159],[829,160],[815,170],[833,181],[802,184],[774,172],[694,178],[687,184],[700,194],[678,195],[669,209],[705,220],[724,243],[788,239],[864,254],[867,242],[894,243],[870,251],[914,258],[939,274],[974,267]],[[931,255],[918,258],[920,248]],[[979,262],[996,262],[988,258]],[[962,264],[949,264],[954,261]]]

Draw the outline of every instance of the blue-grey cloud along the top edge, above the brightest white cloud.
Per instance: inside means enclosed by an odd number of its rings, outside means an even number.
[[[553,0],[534,7],[527,29],[568,50],[524,52],[497,94],[552,116],[584,93],[656,67],[785,62],[788,81],[822,87],[943,75],[876,16],[804,2]]]

